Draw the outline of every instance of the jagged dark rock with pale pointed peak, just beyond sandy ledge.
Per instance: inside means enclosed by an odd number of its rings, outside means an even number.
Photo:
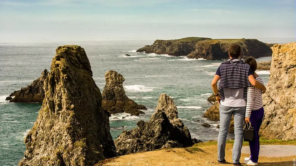
[[[193,142],[183,122],[178,118],[173,100],[161,94],[155,113],[149,121],[139,121],[137,128],[124,130],[115,139],[119,155],[152,151],[163,147],[188,147]]]

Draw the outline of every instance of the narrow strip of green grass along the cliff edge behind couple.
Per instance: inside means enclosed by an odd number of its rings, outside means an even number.
[[[226,141],[228,144],[234,144],[234,139],[229,139]],[[279,139],[265,139],[265,138],[260,138],[260,144],[261,145],[296,145],[296,140],[279,140]],[[208,142],[201,142],[194,144],[192,147],[207,147],[211,145],[217,145],[217,141],[208,141]],[[249,142],[244,142],[243,146],[249,146]]]

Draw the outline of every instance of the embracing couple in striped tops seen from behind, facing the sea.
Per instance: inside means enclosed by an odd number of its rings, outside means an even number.
[[[263,120],[262,92],[266,87],[261,77],[255,73],[257,62],[248,58],[245,62],[239,59],[241,47],[231,45],[229,61],[222,63],[212,81],[212,89],[220,104],[220,131],[218,136],[218,162],[225,160],[225,145],[231,116],[234,115],[234,145],[232,152],[233,165],[242,165],[239,160],[243,144],[244,121],[254,127],[255,138],[250,142],[251,156],[244,159],[247,165],[258,165],[259,128]],[[217,86],[218,81],[219,85]]]

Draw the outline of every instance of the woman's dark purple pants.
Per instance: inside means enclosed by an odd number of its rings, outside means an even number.
[[[259,110],[252,110],[250,122],[251,122],[251,126],[254,127],[254,134],[255,134],[254,140],[249,142],[252,162],[258,162],[258,158],[259,158],[259,149],[260,149],[259,129],[262,124],[263,116],[264,116],[263,107],[260,108]]]

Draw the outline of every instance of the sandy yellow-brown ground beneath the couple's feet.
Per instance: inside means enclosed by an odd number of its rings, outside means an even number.
[[[248,147],[244,147],[248,148]],[[96,166],[227,166],[232,165],[232,145],[226,145],[226,164],[217,163],[217,146],[199,147],[192,149],[175,148],[162,149],[120,156],[100,162]],[[295,152],[295,151],[294,151]],[[270,153],[273,153],[270,151]],[[244,157],[250,154],[242,153]],[[264,166],[293,166],[296,154],[287,157],[259,157],[259,165]]]

